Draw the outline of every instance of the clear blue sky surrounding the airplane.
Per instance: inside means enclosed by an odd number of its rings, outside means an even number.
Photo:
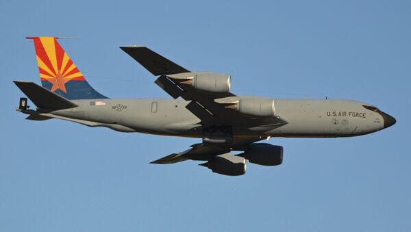
[[[410,1],[1,1],[0,231],[410,231]],[[232,75],[236,94],[354,99],[397,118],[338,139],[284,139],[284,164],[241,177],[152,165],[199,140],[14,111],[32,41],[62,47],[99,92],[169,98],[119,46]]]

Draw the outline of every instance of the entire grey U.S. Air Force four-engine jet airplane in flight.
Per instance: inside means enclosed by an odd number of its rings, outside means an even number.
[[[90,86],[58,37],[27,39],[34,41],[42,86],[14,81],[36,105],[30,109],[22,97],[16,110],[28,114],[28,120],[58,118],[121,132],[201,138],[190,149],[151,164],[191,159],[212,172],[238,176],[245,174],[247,160],[282,164],[283,147],[261,140],[362,136],[396,123],[393,116],[360,101],[236,95],[230,92],[230,75],[188,70],[140,46],[120,48],[158,77],[154,82],[172,99],[110,99]]]

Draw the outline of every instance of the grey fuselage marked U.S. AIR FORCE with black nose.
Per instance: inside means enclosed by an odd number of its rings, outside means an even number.
[[[189,101],[183,99],[95,99],[73,102],[79,106],[51,114],[64,120],[117,131],[203,137],[201,120],[186,109]],[[348,100],[275,99],[275,115],[285,119],[286,125],[264,125],[256,120],[255,125],[233,123],[227,126],[232,127],[234,137],[336,138],[373,133],[390,124],[387,122],[390,120],[388,114],[366,109],[364,105],[369,106]]]

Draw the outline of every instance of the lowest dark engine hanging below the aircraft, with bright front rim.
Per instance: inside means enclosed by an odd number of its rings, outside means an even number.
[[[231,153],[217,155],[209,162],[200,165],[208,167],[212,172],[227,176],[243,175],[247,169],[246,160]]]

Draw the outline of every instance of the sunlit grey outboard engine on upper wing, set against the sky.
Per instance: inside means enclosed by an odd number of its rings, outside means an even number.
[[[225,94],[231,86],[231,76],[212,72],[178,73],[168,75],[172,79],[179,80],[180,84],[191,86],[196,91],[211,94]]]

